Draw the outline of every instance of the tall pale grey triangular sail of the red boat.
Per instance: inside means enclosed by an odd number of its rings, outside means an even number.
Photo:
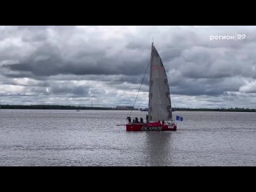
[[[172,108],[166,70],[153,44],[151,51],[149,121],[170,121]]]

